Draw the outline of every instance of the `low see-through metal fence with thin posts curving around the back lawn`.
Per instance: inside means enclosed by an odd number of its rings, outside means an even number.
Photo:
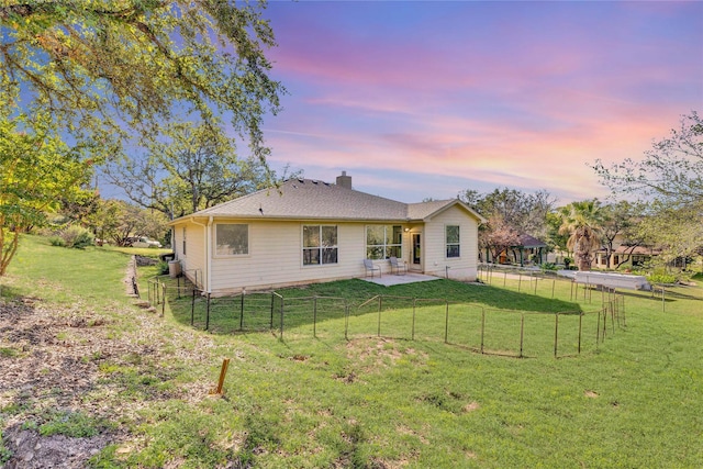
[[[525,293],[536,294],[537,281],[525,279],[531,286]],[[614,291],[601,291],[601,304],[590,311],[543,313],[393,295],[352,300],[255,292],[215,298],[168,276],[147,284],[148,300],[160,314],[168,305],[177,320],[193,327],[215,334],[271,331],[281,340],[377,336],[444,342],[481,354],[565,357],[595,349],[626,327],[624,295]],[[583,294],[587,302],[593,300],[592,289],[583,289]]]

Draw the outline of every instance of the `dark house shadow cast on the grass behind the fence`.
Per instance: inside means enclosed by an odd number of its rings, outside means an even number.
[[[194,298],[182,295],[180,299],[169,294],[167,301],[177,321],[183,324],[192,321],[194,327],[207,328],[213,334],[280,331],[282,324],[283,333],[309,326],[314,335],[317,333],[315,328],[325,322],[337,320],[348,324],[353,319],[368,320],[368,332],[376,333],[373,325],[378,322],[380,328],[380,322],[390,314],[387,312],[399,310],[408,315],[422,310],[436,321],[444,321],[445,315],[457,317],[468,311],[480,314],[482,310],[546,314],[582,312],[581,305],[571,301],[445,279],[394,287],[353,279],[283,289],[276,293],[211,298],[210,304],[201,294]],[[384,317],[380,317],[379,311]]]

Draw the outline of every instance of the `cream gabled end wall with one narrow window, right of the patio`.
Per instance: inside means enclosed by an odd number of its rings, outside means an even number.
[[[460,257],[447,257],[446,225],[459,226]],[[424,272],[473,281],[478,272],[478,222],[459,206],[435,215],[424,228]]]

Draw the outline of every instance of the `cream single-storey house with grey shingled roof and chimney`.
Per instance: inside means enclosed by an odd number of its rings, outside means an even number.
[[[475,280],[483,217],[458,199],[403,203],[336,183],[289,179],[170,222],[183,273],[214,294],[390,273]]]

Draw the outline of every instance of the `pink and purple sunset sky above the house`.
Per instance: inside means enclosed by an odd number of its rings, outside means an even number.
[[[476,189],[607,191],[703,111],[703,2],[272,1],[271,166],[404,202]]]

